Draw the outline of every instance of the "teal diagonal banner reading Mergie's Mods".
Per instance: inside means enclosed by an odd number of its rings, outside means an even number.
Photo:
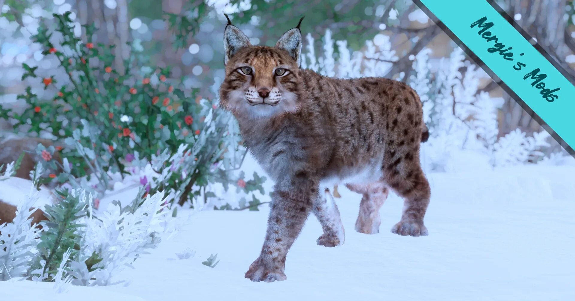
[[[515,93],[513,98],[523,101],[535,112],[559,136],[558,140],[568,144],[572,153],[575,148],[575,86],[572,78],[568,80],[563,76],[486,0],[415,2],[426,13],[431,13],[434,21],[442,22],[442,29],[450,30],[465,44]]]

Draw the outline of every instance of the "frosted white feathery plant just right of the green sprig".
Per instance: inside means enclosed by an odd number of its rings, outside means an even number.
[[[143,197],[140,190],[131,202],[114,201],[107,210],[84,218],[86,227],[80,241],[80,260],[70,263],[72,284],[105,286],[116,284],[113,277],[131,265],[147,249],[155,248],[165,232],[166,210],[163,191]],[[95,256],[94,256],[95,255]],[[97,257],[89,265],[90,257]]]

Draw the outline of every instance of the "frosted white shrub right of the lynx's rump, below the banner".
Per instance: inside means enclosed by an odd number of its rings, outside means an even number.
[[[461,48],[455,48],[450,58],[442,58],[436,72],[420,63],[427,59],[427,55],[416,56],[413,63],[416,76],[412,76],[411,85],[423,95],[424,118],[430,128],[430,140],[422,146],[428,169],[478,168],[478,160],[483,161],[482,167],[486,168],[536,162],[542,158],[540,150],[549,146],[546,132],[529,137],[517,129],[497,138],[497,114],[503,99],[486,92],[478,93],[483,71],[465,61]],[[421,84],[422,79],[428,83]],[[461,155],[463,153],[466,154]]]

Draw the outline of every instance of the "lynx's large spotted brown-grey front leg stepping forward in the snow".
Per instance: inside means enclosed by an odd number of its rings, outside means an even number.
[[[258,259],[246,272],[246,278],[255,282],[286,280],[283,269],[287,251],[292,247],[308,218],[313,200],[317,198],[317,187],[317,182],[309,179],[296,179],[290,181],[289,186],[274,187],[266,239]]]

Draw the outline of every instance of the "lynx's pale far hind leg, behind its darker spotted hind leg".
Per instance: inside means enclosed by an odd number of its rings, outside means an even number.
[[[379,233],[381,218],[379,208],[388,198],[389,190],[383,182],[374,182],[367,185],[348,184],[348,189],[363,194],[359,203],[358,219],[355,221],[355,230],[359,233]]]

